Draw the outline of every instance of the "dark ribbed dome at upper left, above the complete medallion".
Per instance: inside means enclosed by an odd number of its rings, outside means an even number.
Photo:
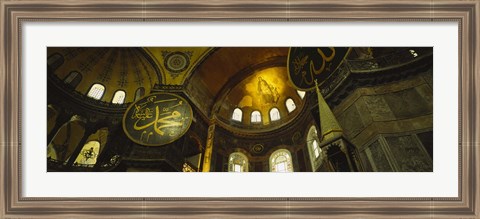
[[[72,72],[78,72],[81,80],[75,90],[87,94],[93,84],[101,84],[105,92],[101,101],[111,102],[115,92],[126,93],[125,102],[133,102],[137,89],[150,93],[159,83],[158,70],[141,48],[48,48],[48,56],[60,54],[61,64],[54,74],[65,80]]]

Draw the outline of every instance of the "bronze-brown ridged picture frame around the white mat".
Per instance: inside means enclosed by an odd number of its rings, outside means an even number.
[[[477,0],[0,2],[1,218],[478,218]],[[22,196],[21,31],[26,21],[456,22],[459,196],[454,198],[32,198]]]

